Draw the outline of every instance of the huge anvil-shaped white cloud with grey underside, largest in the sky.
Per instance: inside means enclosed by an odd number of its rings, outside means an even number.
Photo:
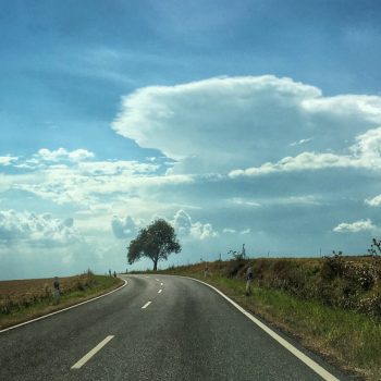
[[[356,136],[356,149],[374,150],[361,147],[361,134],[381,124],[380,110],[378,96],[323,97],[317,87],[271,75],[221,77],[137,89],[122,99],[112,127],[177,160],[173,173],[265,173],[364,164],[355,151],[341,152]],[[307,142],[314,151],[290,157]]]

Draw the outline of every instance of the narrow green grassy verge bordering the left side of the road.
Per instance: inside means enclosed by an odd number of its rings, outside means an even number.
[[[123,281],[119,278],[91,275],[91,281],[86,286],[78,284],[77,290],[71,290],[61,295],[59,302],[54,300],[52,296],[39,297],[34,303],[13,307],[9,314],[0,314],[0,329],[12,327],[91,299],[122,284]]]

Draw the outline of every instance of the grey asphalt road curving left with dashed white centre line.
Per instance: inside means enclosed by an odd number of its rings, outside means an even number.
[[[0,333],[0,380],[322,380],[207,285],[123,279],[111,295]]]

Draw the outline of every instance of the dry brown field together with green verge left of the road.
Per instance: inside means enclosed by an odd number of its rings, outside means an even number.
[[[60,297],[54,279],[0,282],[0,329],[40,317],[112,291],[123,283],[114,276],[86,273],[61,278]]]

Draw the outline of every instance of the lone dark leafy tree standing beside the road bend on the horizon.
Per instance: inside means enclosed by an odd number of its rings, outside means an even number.
[[[158,261],[167,260],[171,253],[180,253],[181,245],[176,241],[174,229],[165,220],[159,219],[142,229],[127,249],[130,265],[142,257],[148,257],[153,261],[153,270],[157,270]]]

